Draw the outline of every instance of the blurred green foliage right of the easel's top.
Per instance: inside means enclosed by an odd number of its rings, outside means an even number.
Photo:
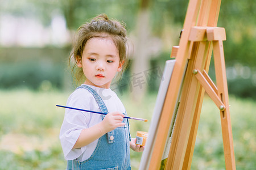
[[[219,27],[226,29],[224,41],[226,65],[236,63],[255,67],[256,3],[253,0],[222,1]]]

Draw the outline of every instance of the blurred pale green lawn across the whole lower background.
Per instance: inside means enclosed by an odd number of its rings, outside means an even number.
[[[64,109],[55,105],[65,105],[70,93],[0,91],[0,169],[65,169],[59,142]],[[129,116],[149,120],[131,120],[132,137],[136,131],[147,131],[156,94],[148,94],[140,102],[127,94],[120,97]],[[229,103],[237,169],[253,169],[256,103],[236,97],[230,97]],[[132,169],[138,169],[141,155],[131,151]],[[208,97],[203,103],[191,169],[225,169],[220,113]]]

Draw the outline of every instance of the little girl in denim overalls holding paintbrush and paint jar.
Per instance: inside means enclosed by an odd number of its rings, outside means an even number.
[[[131,169],[130,148],[143,151],[130,137],[125,107],[110,89],[127,62],[126,29],[101,14],[81,25],[69,64],[73,75],[84,80],[68,98],[67,106],[106,115],[66,109],[60,142],[67,169]]]

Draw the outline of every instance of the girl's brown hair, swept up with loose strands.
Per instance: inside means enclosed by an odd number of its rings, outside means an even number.
[[[94,37],[110,37],[118,49],[120,62],[124,61],[122,70],[117,78],[121,78],[127,67],[127,38],[125,24],[117,20],[109,19],[106,14],[100,14],[93,18],[90,23],[85,23],[77,29],[73,42],[73,49],[69,55],[69,66],[71,67],[73,79],[80,84],[85,78],[82,68],[77,67],[78,59],[82,59],[82,52],[86,42]]]

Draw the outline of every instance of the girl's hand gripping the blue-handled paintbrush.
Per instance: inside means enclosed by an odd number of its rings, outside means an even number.
[[[106,114],[104,120],[100,123],[102,125],[101,130],[108,133],[119,126],[125,126],[125,123],[122,123],[123,117],[125,117],[125,115],[120,112]]]

